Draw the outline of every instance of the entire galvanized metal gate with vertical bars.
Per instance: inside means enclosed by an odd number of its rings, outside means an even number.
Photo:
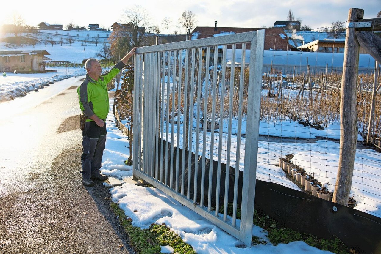
[[[248,43],[250,64],[245,63]],[[253,227],[263,45],[264,30],[258,30],[138,48],[134,60],[134,177],[247,246]],[[236,127],[233,104],[239,108]],[[243,141],[241,116],[246,119]]]

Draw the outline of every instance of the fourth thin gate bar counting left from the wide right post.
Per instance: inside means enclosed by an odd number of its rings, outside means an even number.
[[[211,193],[213,179],[213,160],[214,160],[214,133],[216,119],[216,87],[217,87],[217,58],[218,46],[214,47],[214,63],[213,63],[213,87],[212,87],[212,113],[211,113],[211,130],[210,130],[210,163],[209,163],[209,184],[208,184],[208,212],[211,210]]]

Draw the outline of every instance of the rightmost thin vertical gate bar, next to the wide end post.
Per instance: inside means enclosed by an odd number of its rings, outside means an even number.
[[[245,57],[246,57],[246,43],[242,43],[241,53],[241,73],[239,81],[239,102],[238,102],[238,126],[237,126],[237,149],[235,150],[235,174],[234,174],[234,194],[233,194],[233,220],[232,226],[235,227],[237,218],[237,197],[238,197],[238,178],[239,178],[239,165],[240,165],[240,150],[241,150],[241,129],[242,129],[242,105],[243,105],[243,89],[244,89],[244,76],[245,76]]]

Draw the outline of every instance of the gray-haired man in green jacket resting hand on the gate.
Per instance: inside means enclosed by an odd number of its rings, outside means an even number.
[[[99,171],[106,144],[105,121],[110,106],[107,83],[122,70],[128,59],[135,54],[135,49],[136,47],[104,74],[101,74],[102,67],[97,59],[86,61],[86,78],[77,89],[79,106],[87,117],[82,131],[83,153],[81,156],[82,183],[85,186],[94,186],[93,180],[107,180],[107,176]]]

